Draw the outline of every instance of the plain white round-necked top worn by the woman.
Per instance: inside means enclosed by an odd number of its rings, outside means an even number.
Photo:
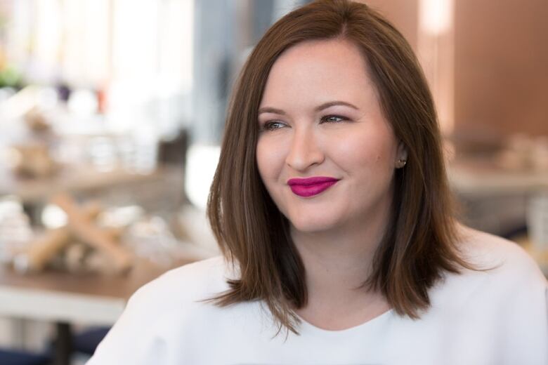
[[[447,274],[419,320],[390,310],[343,331],[306,321],[275,336],[261,301],[197,300],[228,288],[223,258],[179,267],[143,286],[88,365],[548,364],[548,285],[516,244],[467,229],[469,260],[487,272]]]

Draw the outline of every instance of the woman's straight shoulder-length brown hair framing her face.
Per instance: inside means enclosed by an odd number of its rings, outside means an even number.
[[[457,229],[445,176],[441,135],[422,69],[403,36],[365,4],[320,0],[278,20],[249,56],[228,108],[221,158],[207,214],[223,254],[240,278],[213,298],[217,305],[263,300],[279,329],[296,333],[294,308],[307,302],[305,270],[289,223],[264,187],[256,166],[258,109],[270,68],[303,41],[340,38],[367,60],[386,119],[407,148],[396,170],[391,227],[379,244],[364,286],[381,291],[400,315],[418,318],[428,290],[443,272],[469,267],[457,250]]]

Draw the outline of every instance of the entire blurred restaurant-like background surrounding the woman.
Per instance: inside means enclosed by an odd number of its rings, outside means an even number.
[[[218,253],[228,95],[306,2],[0,1],[0,364],[85,361],[138,286]],[[462,220],[547,270],[548,2],[364,2],[424,68]]]

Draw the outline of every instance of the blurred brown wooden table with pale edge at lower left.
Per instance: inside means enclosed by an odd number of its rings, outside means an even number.
[[[140,259],[124,275],[102,276],[55,271],[22,275],[0,266],[0,316],[55,322],[55,364],[68,365],[70,324],[114,324],[131,294],[169,268]]]

